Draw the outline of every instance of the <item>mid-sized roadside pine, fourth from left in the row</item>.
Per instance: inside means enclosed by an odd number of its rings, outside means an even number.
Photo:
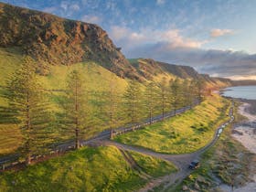
[[[124,92],[124,107],[134,130],[135,123],[139,123],[141,112],[143,112],[142,91],[139,83],[135,80],[129,83],[127,90]]]

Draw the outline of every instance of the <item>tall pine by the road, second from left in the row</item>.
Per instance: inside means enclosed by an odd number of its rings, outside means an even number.
[[[75,140],[75,148],[80,147],[80,139],[91,127],[91,107],[89,93],[85,89],[81,73],[73,70],[67,80],[66,101],[63,103],[65,119],[64,134]]]

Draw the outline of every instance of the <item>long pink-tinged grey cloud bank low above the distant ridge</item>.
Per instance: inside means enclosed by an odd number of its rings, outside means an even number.
[[[227,32],[227,31],[226,31]],[[168,63],[190,65],[202,73],[232,79],[255,79],[256,54],[232,49],[204,49],[208,40],[185,37],[179,29],[165,31],[111,27],[110,37],[123,48],[127,58],[152,58]]]

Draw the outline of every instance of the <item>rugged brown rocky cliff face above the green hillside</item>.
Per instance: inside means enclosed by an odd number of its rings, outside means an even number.
[[[121,77],[139,79],[107,33],[96,25],[0,3],[0,46],[20,47],[43,63],[94,60]]]

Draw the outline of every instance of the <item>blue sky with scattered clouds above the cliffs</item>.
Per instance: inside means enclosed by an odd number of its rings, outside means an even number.
[[[1,0],[0,0],[1,1]],[[2,0],[106,30],[128,59],[256,80],[256,0]]]

